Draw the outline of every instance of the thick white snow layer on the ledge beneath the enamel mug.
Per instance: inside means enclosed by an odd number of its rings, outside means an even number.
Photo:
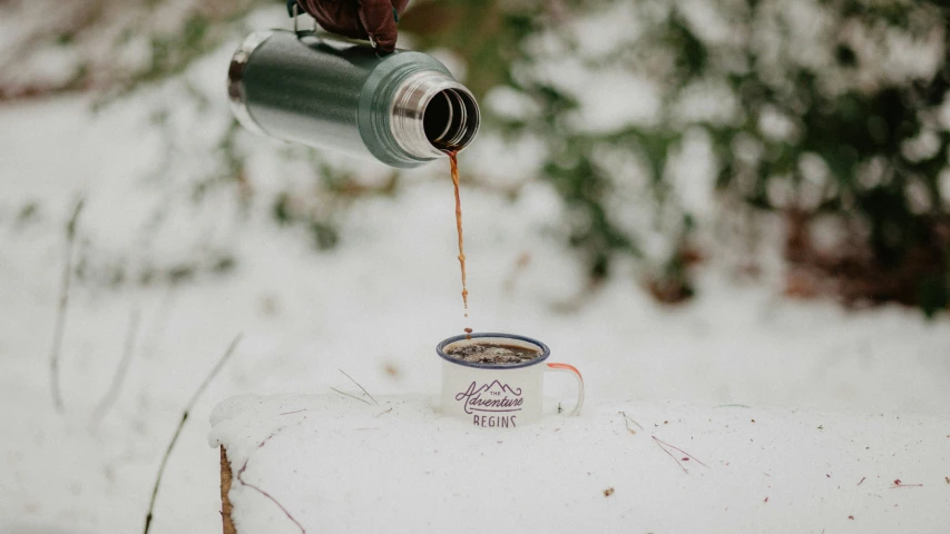
[[[621,400],[486,429],[424,396],[376,400],[232,398],[210,444],[307,532],[942,532],[950,518],[943,417]],[[301,532],[236,478],[228,495],[238,533]]]

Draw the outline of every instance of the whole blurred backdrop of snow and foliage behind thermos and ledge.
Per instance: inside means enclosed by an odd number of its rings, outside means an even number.
[[[433,392],[468,326],[545,340],[594,402],[947,413],[942,2],[411,2],[400,47],[483,113],[468,319],[448,162],[232,118],[231,55],[290,24],[262,0],[0,0],[0,532],[140,528],[238,333],[153,532],[218,524],[215,403],[337,369]]]

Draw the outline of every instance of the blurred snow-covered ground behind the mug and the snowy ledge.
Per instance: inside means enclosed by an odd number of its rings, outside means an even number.
[[[244,339],[192,414],[172,456],[155,533],[219,528],[217,452],[207,447],[208,415],[217,402],[245,393],[350,387],[337,369],[374,394],[434,392],[434,346],[467,326],[546,342],[554,360],[571,363],[585,374],[594,406],[616,400],[631,409],[653,406],[650,413],[659,414],[656,406],[667,400],[708,408],[743,404],[783,413],[821,411],[835,421],[854,417],[856,426],[880,414],[889,421],[907,417],[907,442],[925,448],[927,455],[895,457],[887,473],[869,471],[866,476],[902,478],[904,466],[919,469],[920,457],[933,459],[932,476],[913,491],[930,495],[928,502],[942,498],[948,505],[937,513],[950,520],[950,485],[942,484],[950,476],[946,314],[925,322],[920,313],[900,307],[845,312],[832,301],[786,300],[770,277],[733,279],[715,254],[699,277],[698,297],[688,305],[655,304],[638,287],[635,266],[621,263],[603,288],[567,307],[578,301],[584,278],[570,251],[545,231],[558,224],[555,192],[531,184],[512,201],[463,182],[471,291],[471,314],[464,319],[447,168],[410,174],[394,197],[359,200],[340,220],[341,246],[316,251],[302,231],[278,228],[264,207],[252,202],[242,211],[228,188],[194,204],[174,180],[146,181],[167,156],[158,136],[144,126],[136,102],[95,118],[88,103],[70,98],[0,107],[4,534],[140,530],[180,411],[237,333]],[[276,154],[271,150],[252,161],[249,179],[256,190],[295,179]],[[180,157],[199,166],[199,156]],[[490,167],[481,162],[487,158],[468,156],[461,158],[463,175]],[[358,168],[369,176],[385,174],[372,165]],[[202,274],[173,289],[161,284],[75,285],[61,353],[67,411],[60,416],[50,396],[48,358],[63,227],[78,195],[87,200],[78,254],[101,261],[90,269],[112,260],[133,270],[168,265],[208,249],[232,254],[236,264],[228,274]],[[23,220],[18,214],[29,202],[38,210]],[[144,228],[155,212],[169,215],[159,230],[147,234]],[[530,261],[518,267],[526,254]],[[118,402],[94,421],[136,310],[140,328]],[[555,383],[551,393],[569,388],[567,382]],[[913,416],[930,423],[914,425]],[[946,431],[936,432],[939,417]],[[795,421],[777,417],[771,432],[799,433],[799,422],[791,423]],[[665,465],[668,457],[657,455],[652,462],[672,467]],[[666,502],[664,513],[689,511],[675,494]],[[775,522],[793,521],[778,507],[763,513],[772,510]],[[910,506],[893,511],[909,514],[901,522],[909,532],[937,532],[924,528],[936,523],[914,523],[913,513]],[[874,526],[864,524],[863,532],[869,530]]]

